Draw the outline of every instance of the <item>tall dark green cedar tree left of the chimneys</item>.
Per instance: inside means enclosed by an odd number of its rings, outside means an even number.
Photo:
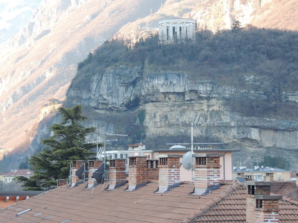
[[[59,108],[62,115],[60,124],[53,124],[50,129],[53,136],[41,142],[50,147],[43,149],[36,156],[31,156],[29,163],[35,171],[30,178],[18,177],[24,190],[49,190],[55,187],[57,179],[69,176],[69,164],[72,160],[86,160],[95,153],[90,152],[94,144],[86,143],[86,136],[96,128],[85,128],[80,122],[87,117],[82,116],[82,105],[73,108]]]

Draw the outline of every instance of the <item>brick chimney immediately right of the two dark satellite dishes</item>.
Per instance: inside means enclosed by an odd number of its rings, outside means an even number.
[[[126,159],[110,159],[108,191],[115,190],[126,183]]]

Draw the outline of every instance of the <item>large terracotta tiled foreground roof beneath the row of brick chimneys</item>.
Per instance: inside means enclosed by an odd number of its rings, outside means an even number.
[[[124,191],[127,185],[114,191],[105,191],[107,185],[94,190],[85,190],[82,185],[62,186],[1,209],[0,222],[52,223],[70,219],[69,223],[185,223],[196,219],[196,222],[245,223],[245,186],[236,181],[221,183],[220,189],[205,196],[188,194],[194,188],[190,182],[181,182],[166,194],[154,193],[157,181],[132,192]],[[281,200],[280,205],[281,223],[298,221],[298,202],[287,199]],[[32,211],[16,217],[27,209]]]

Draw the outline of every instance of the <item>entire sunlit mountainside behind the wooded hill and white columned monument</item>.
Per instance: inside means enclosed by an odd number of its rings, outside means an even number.
[[[169,17],[194,18],[213,31],[229,28],[235,19],[261,28],[297,30],[296,4],[286,0],[42,1],[27,26],[0,45],[0,147],[12,149],[32,137],[44,104],[52,98],[64,100],[77,62],[118,30],[154,32],[158,20]]]

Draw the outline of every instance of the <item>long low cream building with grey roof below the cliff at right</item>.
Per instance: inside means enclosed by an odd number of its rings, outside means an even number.
[[[246,166],[233,167],[232,176],[235,178],[246,178],[252,181],[289,181],[291,180],[291,171],[265,167],[254,166],[254,168],[246,168]]]

